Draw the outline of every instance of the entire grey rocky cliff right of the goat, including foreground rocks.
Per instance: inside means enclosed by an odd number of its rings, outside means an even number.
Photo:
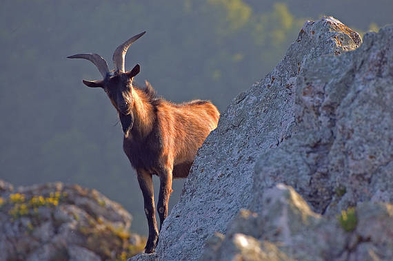
[[[199,149],[157,253],[134,260],[390,260],[392,94],[393,26],[362,43],[332,17],[305,22]]]

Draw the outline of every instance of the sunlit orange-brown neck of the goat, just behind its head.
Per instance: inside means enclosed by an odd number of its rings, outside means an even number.
[[[132,88],[132,114],[134,125],[132,132],[137,132],[138,136],[146,136],[152,131],[154,122],[153,105],[143,91]]]

